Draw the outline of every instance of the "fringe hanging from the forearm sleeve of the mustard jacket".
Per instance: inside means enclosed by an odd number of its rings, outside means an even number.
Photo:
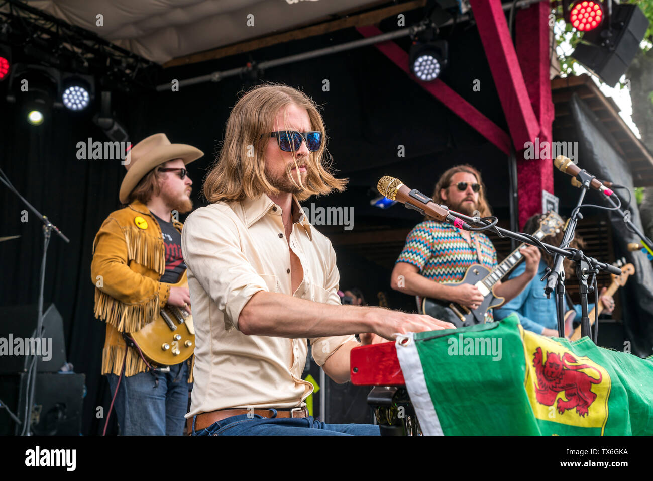
[[[138,331],[155,320],[159,310],[158,293],[139,303],[125,304],[95,288],[95,317],[110,323],[121,333]]]

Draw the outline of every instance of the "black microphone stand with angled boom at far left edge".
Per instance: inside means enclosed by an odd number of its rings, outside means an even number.
[[[65,240],[66,242],[70,242],[70,239],[63,235],[63,233],[59,230],[59,227],[56,225],[52,224],[50,220],[48,219],[47,216],[42,215],[36,208],[33,207],[25,197],[20,195],[18,191],[12,186],[11,182],[9,182],[9,179],[5,175],[5,173],[0,169],[0,182],[5,184],[7,188],[15,193],[20,200],[23,201],[23,203],[29,207],[29,210],[34,212],[34,214],[43,222],[43,257],[41,259],[41,267],[40,267],[40,276],[39,276],[39,314],[38,314],[38,320],[37,320],[37,329],[35,331],[35,338],[40,338],[42,335],[43,331],[43,288],[45,284],[45,264],[46,264],[46,257],[48,254],[48,244],[50,244],[50,233],[52,231],[56,232],[61,239]],[[31,436],[31,417],[32,417],[32,407],[34,406],[34,397],[35,397],[35,391],[36,391],[36,384],[37,384],[37,362],[39,356],[37,354],[42,354],[42,353],[37,353],[34,352],[34,358],[32,359],[31,363],[29,364],[29,369],[27,373],[27,390],[25,391],[25,408],[24,408],[24,415],[23,415],[23,429],[21,431],[21,435],[26,435],[26,436]],[[29,356],[29,354],[27,354]]]

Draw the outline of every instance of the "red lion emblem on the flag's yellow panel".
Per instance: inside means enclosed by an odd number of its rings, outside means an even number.
[[[603,380],[601,372],[587,364],[573,365],[577,359],[568,352],[560,356],[554,352],[547,351],[547,361],[542,362],[542,349],[535,350],[533,357],[533,367],[537,373],[537,382],[535,382],[535,391],[537,402],[546,406],[552,406],[558,393],[564,391],[564,401],[562,397],[558,399],[556,407],[560,414],[565,410],[576,408],[579,416],[587,416],[590,405],[596,399],[596,393],[592,392],[592,384],[600,384]],[[593,369],[599,374],[595,379],[588,374],[579,371],[580,369]]]

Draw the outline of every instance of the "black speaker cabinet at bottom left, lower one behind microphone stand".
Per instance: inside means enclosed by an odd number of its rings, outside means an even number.
[[[84,374],[38,373],[32,433],[37,436],[79,436],[82,433]],[[25,417],[27,373],[0,375],[0,399],[21,422]],[[0,409],[0,435],[19,435],[22,426]]]

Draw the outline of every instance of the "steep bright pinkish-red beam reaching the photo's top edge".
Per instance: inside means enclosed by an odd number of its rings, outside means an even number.
[[[470,0],[470,5],[513,144],[517,151],[522,150],[526,142],[535,142],[540,125],[526,90],[501,0]]]

